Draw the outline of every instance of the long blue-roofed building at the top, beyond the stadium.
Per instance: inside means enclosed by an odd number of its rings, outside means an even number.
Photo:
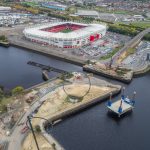
[[[55,9],[55,10],[63,10],[63,11],[67,9],[66,5],[62,5],[58,2],[42,2],[41,6],[50,9]]]

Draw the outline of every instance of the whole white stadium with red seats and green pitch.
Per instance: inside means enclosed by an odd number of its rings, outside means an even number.
[[[79,48],[90,44],[106,33],[106,26],[74,22],[57,22],[25,28],[26,39],[59,48]]]

